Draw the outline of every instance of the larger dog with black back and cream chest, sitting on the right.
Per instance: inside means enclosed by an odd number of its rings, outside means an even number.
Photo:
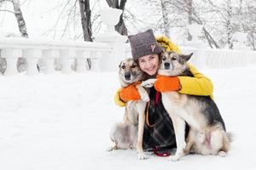
[[[192,54],[162,53],[158,74],[166,77],[194,77],[186,63],[191,56]],[[152,85],[154,81],[143,82],[143,86],[149,87],[149,84]],[[230,140],[225,132],[224,121],[218,107],[210,96],[195,96],[177,92],[161,94],[163,105],[172,118],[176,135],[177,151],[175,156],[171,157],[172,161],[177,161],[190,152],[225,156],[230,148]],[[187,142],[185,142],[185,122],[190,127]]]

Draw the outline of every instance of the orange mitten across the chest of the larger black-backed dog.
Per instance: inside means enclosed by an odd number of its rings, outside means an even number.
[[[178,77],[165,77],[158,75],[154,82],[154,88],[159,92],[178,91],[180,83]]]

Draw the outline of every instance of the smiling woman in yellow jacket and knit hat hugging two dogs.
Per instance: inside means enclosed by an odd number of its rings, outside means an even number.
[[[160,53],[162,48],[180,54],[177,46],[166,37],[154,38],[150,29],[136,35],[128,36],[131,45],[131,54],[145,73],[146,79],[155,78],[160,66]],[[157,40],[157,41],[156,41]],[[198,72],[194,66],[189,65],[194,77],[160,77],[150,88],[148,109],[145,111],[146,123],[143,134],[143,149],[174,148],[176,147],[175,133],[172,120],[164,108],[160,92],[177,91],[181,94],[212,96],[212,82]],[[117,105],[124,106],[129,100],[140,99],[137,88],[128,86],[119,89],[115,95]],[[188,133],[189,127],[186,127]]]

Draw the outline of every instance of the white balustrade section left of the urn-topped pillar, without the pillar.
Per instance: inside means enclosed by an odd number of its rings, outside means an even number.
[[[72,72],[71,65],[76,59],[77,72],[86,71],[85,59],[92,59],[91,70],[97,71],[98,60],[102,54],[111,51],[108,43],[103,42],[63,42],[46,39],[28,39],[18,37],[0,38],[1,57],[6,59],[7,67],[4,75],[16,74],[18,58],[25,58],[27,62],[27,75],[38,73],[38,59],[44,60],[44,73],[55,71],[55,59],[61,60],[61,72]]]

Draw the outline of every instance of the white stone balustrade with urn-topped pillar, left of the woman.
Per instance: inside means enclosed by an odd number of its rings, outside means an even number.
[[[71,73],[74,59],[77,72],[86,71],[86,59],[91,61],[91,71],[117,71],[121,59],[125,58],[127,37],[114,31],[122,10],[104,8],[102,21],[108,30],[96,37],[95,42],[56,41],[29,38],[0,38],[0,56],[6,59],[4,75],[14,75],[18,58],[26,59],[26,75],[38,74],[38,60],[44,61],[40,72],[55,72],[55,59],[59,59],[62,73]]]

